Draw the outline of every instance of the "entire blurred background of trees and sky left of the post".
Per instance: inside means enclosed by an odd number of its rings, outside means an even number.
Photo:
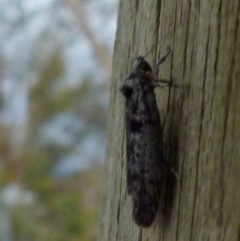
[[[117,0],[0,0],[0,241],[96,240]]]

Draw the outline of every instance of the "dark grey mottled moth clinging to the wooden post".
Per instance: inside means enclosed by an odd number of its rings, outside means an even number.
[[[136,57],[120,89],[126,99],[127,192],[132,196],[133,220],[140,227],[152,225],[169,170],[154,89],[171,83],[157,79],[158,68],[170,52],[168,48],[155,64],[154,73],[143,56]]]

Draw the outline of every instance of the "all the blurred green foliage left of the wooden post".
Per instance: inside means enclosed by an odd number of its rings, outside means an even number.
[[[79,139],[84,138],[90,129],[102,130],[106,112],[96,98],[103,87],[94,86],[86,78],[75,88],[56,88],[63,74],[64,63],[60,52],[56,52],[30,92],[28,138],[14,158],[22,166],[23,188],[31,190],[36,200],[30,205],[12,207],[14,240],[96,240],[102,166],[96,164],[97,168],[89,171],[54,179],[53,169],[59,158],[74,146],[42,145],[39,131],[55,115],[66,112],[86,120],[85,133],[79,135]],[[6,163],[10,149],[9,139],[1,139],[0,151]],[[0,183],[5,185],[9,181],[9,171],[0,166]]]

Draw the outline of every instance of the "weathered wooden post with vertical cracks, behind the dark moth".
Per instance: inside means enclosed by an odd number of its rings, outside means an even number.
[[[240,240],[240,2],[120,0],[114,49],[99,241]],[[161,77],[190,88],[158,89],[169,161],[180,185],[167,219],[149,229],[132,220],[126,194],[124,98],[131,60],[170,46]]]

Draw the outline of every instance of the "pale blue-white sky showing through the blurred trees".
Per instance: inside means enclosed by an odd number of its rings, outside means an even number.
[[[117,19],[117,1],[83,0],[89,26],[111,52],[114,45]],[[79,28],[78,20],[70,8],[61,0],[0,0],[0,57],[2,62],[0,95],[0,121],[11,128],[13,146],[21,148],[26,137],[29,119],[29,91],[39,81],[38,72],[34,68],[34,59],[44,69],[51,54],[61,49],[65,63],[65,75],[59,81],[60,88],[79,85],[80,76],[90,76],[96,84],[103,81],[104,71],[93,53],[89,39]],[[108,93],[100,99],[108,106]],[[74,117],[56,116],[52,122],[43,126],[43,135],[48,140],[68,141],[70,132],[66,134],[64,126],[72,126]],[[74,126],[72,132],[74,132]],[[84,128],[82,123],[75,128]],[[85,167],[86,160],[91,159],[94,149],[96,156],[104,158],[104,138],[96,133],[95,138],[89,133],[81,147],[69,155],[62,157],[59,163],[74,163]],[[70,138],[71,139],[71,138]],[[81,154],[80,154],[81,153]],[[82,162],[79,163],[79,155]],[[70,165],[71,166],[71,165]],[[69,165],[68,165],[69,167]],[[61,169],[61,168],[60,168]]]

